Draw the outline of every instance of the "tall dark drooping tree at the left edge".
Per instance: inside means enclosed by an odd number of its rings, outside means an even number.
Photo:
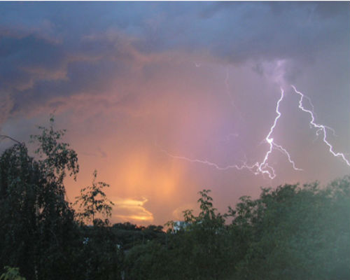
[[[34,157],[18,141],[0,155],[0,267],[20,267],[28,280],[120,279],[117,235],[95,217],[95,227],[79,227],[66,202],[64,179],[76,178],[78,157],[53,123],[51,118],[49,128],[39,127],[41,134],[31,136]],[[101,208],[104,183],[93,185],[92,211],[110,214],[110,208]],[[11,268],[3,277],[15,273]]]

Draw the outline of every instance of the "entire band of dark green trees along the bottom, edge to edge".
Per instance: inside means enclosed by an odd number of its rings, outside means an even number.
[[[96,172],[77,197],[81,212],[66,202],[77,155],[64,131],[40,128],[34,157],[20,143],[0,155],[0,279],[350,279],[349,176],[263,188],[227,214],[203,190],[200,214],[185,211],[176,232],[172,222],[167,232],[111,225]]]

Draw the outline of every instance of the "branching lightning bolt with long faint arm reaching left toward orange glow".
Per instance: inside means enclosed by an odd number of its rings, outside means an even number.
[[[287,156],[288,161],[293,165],[293,169],[302,170],[302,169],[295,167],[295,162],[293,162],[293,160],[291,160],[291,157],[290,157],[290,154],[288,153],[288,151],[286,151],[286,149],[283,148],[281,145],[276,144],[274,142],[274,139],[271,137],[272,133],[274,132],[274,128],[276,127],[277,120],[279,120],[279,118],[281,117],[281,112],[279,111],[279,104],[281,103],[283,97],[284,97],[284,92],[283,92],[283,89],[281,88],[281,97],[279,98],[279,100],[276,104],[277,116],[274,119],[274,123],[273,123],[272,127],[270,127],[270,129],[269,129],[269,133],[267,134],[267,137],[265,137],[265,141],[267,142],[267,144],[269,144],[269,149],[268,149],[267,153],[265,153],[265,157],[264,157],[264,160],[262,162],[255,162],[255,164],[253,164],[253,165],[247,165],[246,162],[244,162],[242,165],[220,166],[214,162],[209,162],[209,160],[191,159],[191,158],[187,158],[184,156],[172,155],[165,150],[162,150],[162,152],[167,154],[169,157],[174,158],[174,159],[186,160],[188,162],[193,162],[193,163],[201,163],[203,165],[209,165],[211,167],[215,167],[218,170],[228,170],[228,169],[232,169],[232,168],[238,169],[238,170],[248,169],[249,171],[253,172],[253,174],[255,174],[255,175],[258,175],[258,174],[267,175],[267,176],[269,176],[269,179],[274,179],[276,177],[276,173],[274,171],[274,168],[268,164],[268,160],[269,160],[269,155],[272,153],[272,150],[276,149],[278,151],[281,151],[281,153],[283,153]]]

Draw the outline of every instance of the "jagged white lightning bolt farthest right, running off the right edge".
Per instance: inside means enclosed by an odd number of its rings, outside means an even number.
[[[309,97],[304,95],[302,92],[297,91],[297,89],[295,88],[294,85],[291,85],[291,87],[293,87],[293,90],[295,91],[295,93],[300,95],[299,109],[304,111],[305,113],[309,114],[309,116],[311,118],[311,120],[310,120],[310,127],[314,127],[314,128],[317,129],[316,130],[316,136],[318,137],[318,135],[320,133],[323,133],[323,142],[328,146],[330,153],[332,155],[334,155],[335,157],[337,157],[337,158],[342,158],[342,160],[346,163],[346,165],[350,166],[350,162],[349,162],[349,160],[346,160],[344,154],[343,153],[335,153],[335,151],[333,151],[332,145],[327,140],[327,129],[331,130],[333,132],[333,134],[335,134],[334,130],[332,130],[330,127],[327,127],[325,125],[319,125],[319,124],[315,123],[315,116],[314,116],[313,110],[311,111],[311,110],[305,109],[303,104],[302,104],[303,99],[309,99]]]

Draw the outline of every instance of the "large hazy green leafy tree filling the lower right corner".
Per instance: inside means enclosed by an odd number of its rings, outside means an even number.
[[[258,200],[241,200],[232,223],[244,248],[239,278],[349,279],[350,181],[335,182],[263,189]]]

